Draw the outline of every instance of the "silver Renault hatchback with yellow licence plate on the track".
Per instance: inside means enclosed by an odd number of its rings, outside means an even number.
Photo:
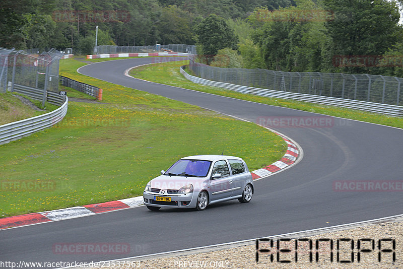
[[[238,157],[197,155],[184,157],[147,183],[143,193],[149,210],[195,208],[238,199],[248,203],[254,187],[246,163]]]

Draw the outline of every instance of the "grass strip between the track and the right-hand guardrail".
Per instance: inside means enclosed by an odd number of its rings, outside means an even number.
[[[130,75],[139,79],[167,84],[171,86],[208,92],[217,95],[228,96],[237,99],[248,100],[274,106],[288,107],[303,111],[315,112],[330,116],[356,119],[366,122],[378,123],[398,128],[403,128],[403,117],[394,117],[377,113],[366,112],[357,109],[348,109],[337,106],[320,105],[296,100],[261,97],[251,94],[242,94],[218,87],[204,86],[186,80],[179,72],[179,66],[188,64],[188,61],[170,61],[160,64],[150,64],[132,69]],[[188,72],[189,70],[187,70]]]

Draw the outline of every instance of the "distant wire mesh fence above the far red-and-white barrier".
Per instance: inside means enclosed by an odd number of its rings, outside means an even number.
[[[196,54],[195,45],[170,44],[170,45],[152,45],[152,46],[112,46],[102,45],[94,47],[94,54],[111,53],[150,53],[150,52],[182,52]]]

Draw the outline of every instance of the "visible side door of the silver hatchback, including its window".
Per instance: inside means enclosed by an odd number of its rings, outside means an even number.
[[[221,174],[221,178],[213,178],[215,174]],[[230,197],[232,194],[230,181],[231,176],[227,162],[225,160],[215,162],[209,186],[210,199],[214,201]]]

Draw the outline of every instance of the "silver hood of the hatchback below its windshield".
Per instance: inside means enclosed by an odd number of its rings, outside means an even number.
[[[195,190],[203,187],[208,180],[206,177],[165,176],[161,175],[151,180],[151,187],[157,189],[177,189],[192,184]]]

